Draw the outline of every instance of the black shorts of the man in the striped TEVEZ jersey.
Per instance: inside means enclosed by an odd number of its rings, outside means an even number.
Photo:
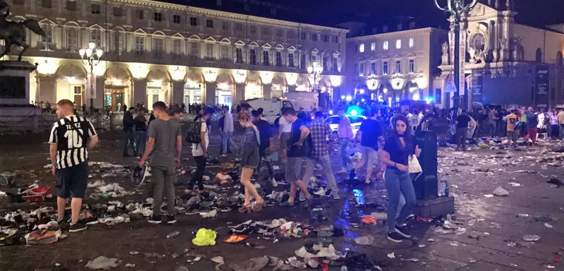
[[[57,169],[59,175],[59,198],[85,198],[88,186],[88,162],[74,167]]]

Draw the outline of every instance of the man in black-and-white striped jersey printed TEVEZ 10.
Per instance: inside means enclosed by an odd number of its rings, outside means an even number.
[[[69,231],[82,231],[86,225],[78,222],[78,215],[88,185],[88,150],[98,144],[98,135],[89,120],[75,116],[70,100],[60,100],[56,108],[59,121],[51,128],[49,156],[51,171],[59,176],[61,186],[57,194],[57,222],[63,223],[66,199],[72,198]]]

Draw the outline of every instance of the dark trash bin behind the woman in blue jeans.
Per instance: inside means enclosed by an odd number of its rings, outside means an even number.
[[[415,196],[418,200],[432,200],[439,194],[436,135],[432,131],[418,131],[415,140],[421,149],[419,164],[423,169],[422,175],[414,183]]]

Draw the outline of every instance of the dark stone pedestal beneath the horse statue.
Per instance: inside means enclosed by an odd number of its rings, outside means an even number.
[[[30,104],[30,73],[37,66],[0,61],[0,131],[39,132],[41,108]]]

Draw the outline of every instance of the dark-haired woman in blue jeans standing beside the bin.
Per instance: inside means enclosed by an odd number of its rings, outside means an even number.
[[[403,239],[411,238],[411,234],[407,231],[407,226],[403,223],[408,215],[410,215],[415,205],[415,189],[409,170],[407,169],[407,161],[411,155],[421,153],[419,146],[415,143],[413,135],[407,131],[411,131],[409,121],[403,115],[394,119],[396,131],[386,140],[384,150],[380,152],[380,161],[386,164],[386,190],[388,190],[388,240],[394,243],[401,243]],[[405,198],[405,205],[400,210],[400,215],[396,219],[398,205],[400,203],[400,195]]]

